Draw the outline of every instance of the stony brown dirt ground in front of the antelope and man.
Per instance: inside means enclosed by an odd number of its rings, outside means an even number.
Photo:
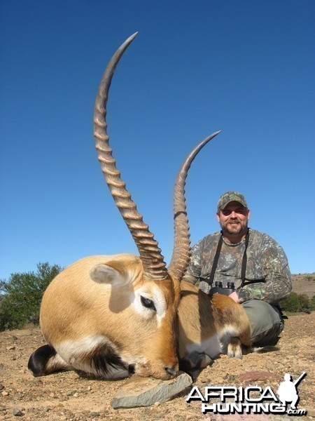
[[[243,359],[223,355],[205,368],[194,385],[270,386],[276,392],[284,373],[293,380],[303,371],[298,408],[314,412],[314,319],[312,314],[290,316],[279,346],[270,352],[247,354]],[[203,415],[201,402],[187,403],[188,391],[166,403],[131,409],[113,409],[111,399],[126,382],[87,380],[74,372],[62,372],[34,378],[27,370],[31,352],[43,345],[40,330],[15,330],[0,333],[0,419],[16,420],[292,420],[288,415]],[[255,379],[253,371],[260,370]],[[267,376],[267,379],[263,378]],[[203,389],[204,390],[204,389]],[[233,417],[233,418],[232,418]],[[297,418],[299,419],[299,418]]]

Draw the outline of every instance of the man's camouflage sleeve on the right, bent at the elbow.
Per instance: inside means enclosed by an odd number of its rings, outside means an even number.
[[[240,288],[237,291],[239,302],[263,300],[273,304],[288,298],[292,289],[288,259],[283,248],[267,235],[262,246],[261,265],[264,282]]]

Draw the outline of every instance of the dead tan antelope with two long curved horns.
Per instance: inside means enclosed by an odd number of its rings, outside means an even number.
[[[104,379],[132,373],[168,379],[188,354],[214,358],[227,347],[230,356],[240,357],[241,343],[249,345],[249,324],[241,305],[223,295],[210,300],[181,282],[190,261],[186,176],[196,154],[219,132],[190,152],[176,178],[175,239],[168,269],[116,168],[106,133],[106,102],[118,61],[136,35],[118,48],[106,67],[94,107],[94,137],[106,183],[139,257],[97,255],[78,260],[56,276],[41,304],[41,330],[48,345],[29,359],[35,376],[64,369]]]

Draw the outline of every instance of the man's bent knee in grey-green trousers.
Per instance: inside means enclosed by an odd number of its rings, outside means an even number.
[[[283,321],[278,309],[265,301],[249,300],[242,303],[251,324],[251,339],[259,346],[276,345],[283,330]]]

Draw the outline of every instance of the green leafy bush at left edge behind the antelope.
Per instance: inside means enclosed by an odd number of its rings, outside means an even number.
[[[43,293],[61,270],[59,265],[38,263],[36,273],[15,273],[8,282],[1,281],[0,330],[22,328],[29,322],[38,324]]]

